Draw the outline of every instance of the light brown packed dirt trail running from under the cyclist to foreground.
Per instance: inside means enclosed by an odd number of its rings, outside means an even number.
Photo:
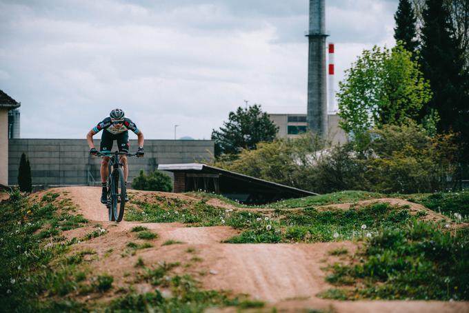
[[[268,302],[283,312],[310,310],[335,310],[335,312],[469,312],[469,303],[439,301],[330,301],[317,298],[318,292],[328,290],[331,285],[325,282],[322,267],[336,259],[328,252],[337,248],[357,249],[354,243],[279,243],[279,244],[232,244],[221,243],[235,234],[228,226],[186,227],[181,223],[137,223],[108,221],[108,211],[99,202],[101,188],[74,187],[56,188],[55,192],[66,194],[66,198],[77,205],[77,213],[83,214],[92,223],[99,222],[109,234],[85,243],[88,247],[103,252],[110,247],[122,250],[131,238],[130,230],[135,225],[144,225],[157,232],[158,248],[150,248],[137,253],[137,256],[121,258],[110,256],[106,263],[94,263],[94,269],[105,270],[113,262],[119,271],[132,269],[137,257],[145,264],[161,261],[177,261],[185,257],[188,247],[194,249],[201,261],[194,272],[205,270],[206,275],[197,277],[204,289],[232,290],[234,294],[249,294],[253,299]],[[129,190],[129,194],[135,191]],[[139,191],[140,193],[140,191]],[[159,192],[170,198],[186,195]],[[197,199],[196,199],[197,200]],[[80,229],[74,230],[80,232]],[[73,232],[70,231],[70,236]],[[181,244],[162,246],[167,240],[181,241]],[[155,245],[156,246],[156,245]],[[112,268],[112,267],[111,267]],[[119,272],[111,273],[119,276]],[[120,273],[121,274],[121,273]],[[124,279],[122,278],[121,281]],[[117,278],[119,283],[119,278]],[[137,286],[146,291],[150,286]],[[230,309],[223,310],[230,312]]]

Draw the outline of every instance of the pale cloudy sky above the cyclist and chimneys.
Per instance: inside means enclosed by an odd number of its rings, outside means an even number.
[[[326,0],[335,90],[395,44],[397,5]],[[210,139],[245,101],[306,114],[308,19],[308,0],[0,0],[0,90],[21,138],[84,139],[121,108],[146,139]]]

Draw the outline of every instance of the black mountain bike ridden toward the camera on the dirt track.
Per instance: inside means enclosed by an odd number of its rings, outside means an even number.
[[[126,208],[126,181],[123,179],[122,163],[119,162],[119,155],[136,156],[127,152],[98,152],[98,156],[110,156],[108,165],[108,203],[109,221],[120,222],[123,218],[123,211]],[[112,168],[112,172],[111,172]]]

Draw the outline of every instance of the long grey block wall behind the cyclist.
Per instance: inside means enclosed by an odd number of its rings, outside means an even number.
[[[99,147],[99,139],[94,145]],[[25,152],[30,160],[33,185],[93,185],[101,183],[101,158],[91,157],[86,139],[10,139],[8,155],[9,185],[17,185],[19,160]],[[213,156],[210,140],[146,140],[145,157],[129,159],[131,183],[140,170],[155,170],[158,164],[193,163]],[[114,143],[113,150],[116,150]],[[130,140],[130,152],[136,152],[137,140]]]

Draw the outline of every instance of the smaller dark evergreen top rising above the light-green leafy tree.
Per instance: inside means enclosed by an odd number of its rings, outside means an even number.
[[[399,0],[397,12],[394,15],[396,28],[394,29],[394,38],[396,41],[402,41],[403,47],[415,53],[417,50],[417,17],[409,0]]]

